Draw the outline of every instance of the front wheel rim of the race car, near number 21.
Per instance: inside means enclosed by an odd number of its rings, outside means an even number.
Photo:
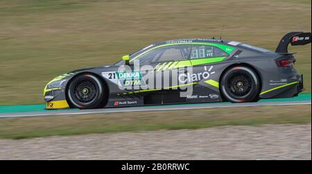
[[[81,79],[73,86],[73,98],[83,105],[96,100],[97,92],[96,84],[92,80]]]

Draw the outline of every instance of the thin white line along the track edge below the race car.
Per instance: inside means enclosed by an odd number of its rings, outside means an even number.
[[[98,109],[98,110],[60,110],[53,112],[32,112],[25,114],[21,113],[11,113],[11,114],[0,114],[0,118],[8,117],[24,117],[24,116],[49,116],[49,115],[77,115],[77,114],[101,114],[101,113],[116,113],[116,112],[141,112],[141,111],[166,111],[166,110],[194,110],[194,109],[211,109],[211,108],[220,108],[220,107],[252,107],[252,106],[268,106],[268,105],[311,105],[311,101],[296,101],[294,103],[286,102],[266,102],[266,103],[220,103],[220,104],[207,104],[200,103],[200,106],[196,104],[190,105],[164,105],[159,106],[144,106],[144,107],[121,107],[121,108],[107,108],[107,109]],[[167,107],[167,108],[166,108]]]

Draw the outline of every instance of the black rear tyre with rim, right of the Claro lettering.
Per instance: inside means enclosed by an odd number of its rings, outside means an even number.
[[[223,97],[232,103],[256,102],[259,100],[260,80],[249,67],[232,67],[220,82]]]

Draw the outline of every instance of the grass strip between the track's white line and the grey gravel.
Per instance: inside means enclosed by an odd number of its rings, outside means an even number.
[[[311,123],[311,105],[7,118],[0,139],[287,123]]]

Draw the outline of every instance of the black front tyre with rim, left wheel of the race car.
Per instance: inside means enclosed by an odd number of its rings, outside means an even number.
[[[105,104],[103,82],[92,74],[83,74],[71,80],[67,88],[67,98],[73,107],[94,109]]]

